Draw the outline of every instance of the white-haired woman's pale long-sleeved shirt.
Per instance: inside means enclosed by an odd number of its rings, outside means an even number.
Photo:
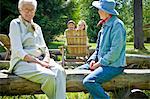
[[[35,31],[30,31],[28,29],[30,25],[28,22],[25,24],[20,18],[13,19],[10,23],[11,60],[9,72],[12,72],[13,67],[27,54],[38,57],[48,53],[41,27],[33,23]]]

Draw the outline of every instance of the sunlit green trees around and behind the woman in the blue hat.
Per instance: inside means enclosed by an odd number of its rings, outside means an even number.
[[[100,27],[97,27],[96,24],[100,20],[97,9],[91,6],[93,0],[72,0],[76,1],[76,11],[73,12],[73,15],[78,17],[79,19],[75,19],[75,21],[79,21],[83,19],[87,22],[88,25],[88,37],[90,42],[95,42],[97,39],[97,32]],[[116,9],[119,12],[119,18],[124,22],[125,28],[127,31],[127,41],[131,42],[134,39],[133,34],[133,0],[117,0],[120,4],[117,5]],[[150,22],[149,13],[150,11],[149,1],[143,0],[143,24],[147,24],[146,22]],[[75,14],[74,14],[75,13]]]

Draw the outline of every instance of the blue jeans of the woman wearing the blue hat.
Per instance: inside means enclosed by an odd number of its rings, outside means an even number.
[[[89,64],[84,64],[77,69],[89,69]],[[84,78],[83,85],[94,99],[110,99],[105,93],[104,89],[101,87],[101,84],[121,74],[123,70],[123,67],[98,67],[91,74]]]

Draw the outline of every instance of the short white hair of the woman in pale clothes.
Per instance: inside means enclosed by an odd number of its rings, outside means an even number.
[[[36,7],[37,7],[37,1],[36,0],[19,0],[18,2],[18,9],[21,9],[21,7],[24,5],[24,4],[32,4],[34,6],[34,9],[36,10]]]

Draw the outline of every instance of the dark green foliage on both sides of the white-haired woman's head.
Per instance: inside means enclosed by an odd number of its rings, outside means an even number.
[[[10,21],[19,15],[17,3],[16,0],[0,1],[3,8],[0,31],[5,34],[9,32]],[[55,35],[59,35],[65,30],[67,20],[72,18],[74,6],[73,2],[67,3],[66,0],[38,0],[34,21],[42,27],[47,44],[52,41]]]

